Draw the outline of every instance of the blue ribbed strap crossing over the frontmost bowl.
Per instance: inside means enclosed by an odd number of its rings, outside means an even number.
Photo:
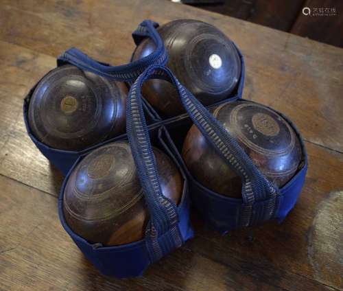
[[[182,237],[178,229],[176,205],[162,194],[147,132],[141,100],[141,87],[146,79],[143,75],[131,86],[126,107],[126,131],[150,213],[150,222],[145,229],[147,251],[150,261],[156,261],[181,246]]]

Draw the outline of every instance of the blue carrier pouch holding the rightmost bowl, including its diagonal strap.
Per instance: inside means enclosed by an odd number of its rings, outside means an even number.
[[[178,82],[169,69],[159,65],[152,65],[139,76],[136,83],[139,85],[139,90],[145,80],[151,78],[159,78],[167,80],[174,85],[178,91],[180,100],[187,110],[189,118],[178,117],[173,120],[167,120],[165,127],[168,132],[175,132],[172,135],[176,145],[172,148],[174,156],[182,164],[189,178],[190,194],[192,203],[200,212],[202,218],[208,222],[213,228],[224,234],[231,229],[241,228],[260,224],[266,220],[276,219],[281,222],[287,213],[294,207],[296,200],[305,182],[305,174],[307,172],[307,154],[303,140],[300,137],[296,126],[292,124],[287,117],[281,115],[289,125],[292,126],[296,135],[300,139],[302,149],[302,161],[298,167],[298,172],[293,178],[280,189],[273,183],[267,180],[263,174],[253,165],[249,156],[241,149],[237,141],[222,127],[222,125],[209,113],[198,100]],[[280,113],[279,113],[280,114]],[[203,187],[189,174],[185,163],[182,162],[180,148],[185,135],[182,136],[182,131],[196,124],[202,135],[215,147],[215,150],[228,162],[229,159],[235,157],[237,164],[231,165],[235,172],[241,176],[242,192],[241,198],[230,198],[217,194],[206,187]],[[170,139],[170,137],[168,137]],[[246,176],[242,176],[237,170],[237,167],[244,169]],[[246,183],[246,179],[250,183]]]

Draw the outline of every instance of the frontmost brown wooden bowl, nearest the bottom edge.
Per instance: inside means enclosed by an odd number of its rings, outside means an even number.
[[[180,202],[183,182],[169,156],[153,148],[163,195]],[[104,246],[141,240],[149,213],[130,146],[117,141],[88,154],[73,170],[63,196],[70,229]]]

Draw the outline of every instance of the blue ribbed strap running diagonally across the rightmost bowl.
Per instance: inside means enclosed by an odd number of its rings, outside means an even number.
[[[154,78],[167,80],[174,84],[193,123],[228,165],[241,177],[244,203],[238,226],[248,226],[272,218],[276,209],[276,194],[279,189],[261,174],[237,141],[230,136],[196,97],[178,82],[169,69],[152,65],[144,71],[135,84],[138,83],[140,86],[142,80]]]

